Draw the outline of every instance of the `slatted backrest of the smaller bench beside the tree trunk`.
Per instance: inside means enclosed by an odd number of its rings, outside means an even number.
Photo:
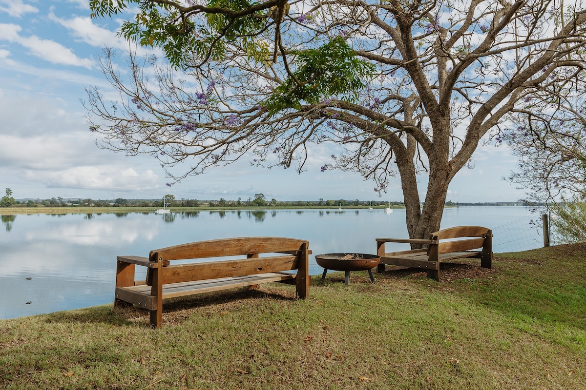
[[[440,241],[459,239],[454,241]],[[438,241],[438,254],[484,248],[491,250],[492,230],[482,226],[456,226],[430,234],[430,240]],[[430,246],[431,248],[431,246]]]

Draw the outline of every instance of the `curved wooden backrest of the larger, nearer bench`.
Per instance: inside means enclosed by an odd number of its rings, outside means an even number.
[[[308,241],[284,237],[239,237],[198,241],[162,249],[149,254],[149,260],[163,265],[163,284],[238,277],[266,272],[279,272],[307,268]],[[280,253],[279,256],[258,257],[264,253]],[[173,260],[246,256],[237,260],[210,261],[195,264],[175,264]],[[152,285],[149,268],[147,285]]]

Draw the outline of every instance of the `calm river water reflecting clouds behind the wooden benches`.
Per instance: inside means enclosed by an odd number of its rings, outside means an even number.
[[[521,206],[466,206],[445,209],[442,228],[490,227],[495,252],[520,251],[543,243],[530,219],[530,210]],[[34,214],[1,220],[0,319],[113,302],[118,255],[148,256],[175,244],[243,236],[305,239],[314,256],[376,253],[377,237],[407,238],[403,209]],[[387,250],[404,247],[396,245]],[[309,272],[321,274],[314,256]]]

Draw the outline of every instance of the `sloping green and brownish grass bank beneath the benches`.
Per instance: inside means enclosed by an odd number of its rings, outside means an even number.
[[[0,321],[0,388],[578,389],[586,245],[165,301],[163,327],[97,306]]]

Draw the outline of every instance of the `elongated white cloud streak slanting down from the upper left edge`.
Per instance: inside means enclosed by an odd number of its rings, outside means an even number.
[[[73,51],[62,44],[49,39],[40,39],[38,36],[22,37],[19,35],[22,27],[13,24],[0,24],[0,39],[21,44],[29,49],[33,56],[42,58],[53,64],[74,65],[91,69],[96,61],[91,58],[79,58]]]

